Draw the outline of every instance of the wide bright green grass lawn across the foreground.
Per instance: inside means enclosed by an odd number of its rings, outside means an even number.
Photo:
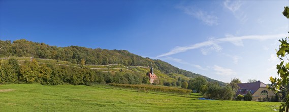
[[[199,100],[109,86],[0,86],[0,111],[274,111],[278,102]]]

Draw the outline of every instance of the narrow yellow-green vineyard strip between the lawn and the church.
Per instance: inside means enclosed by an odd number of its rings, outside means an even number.
[[[188,89],[162,87],[162,86],[154,86],[154,85],[126,85],[126,84],[118,84],[118,83],[109,83],[109,85],[113,87],[136,89],[141,92],[163,92],[163,93],[173,93],[173,94],[181,94],[181,95],[187,95],[191,93],[191,90],[188,90]]]

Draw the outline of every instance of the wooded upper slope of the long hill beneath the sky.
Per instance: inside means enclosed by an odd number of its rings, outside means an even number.
[[[120,64],[123,66],[143,66],[153,65],[154,69],[159,70],[163,74],[176,78],[175,74],[181,74],[186,77],[194,78],[203,76],[201,74],[192,73],[182,70],[171,64],[161,61],[143,58],[140,55],[130,53],[127,50],[108,50],[108,49],[91,49],[80,46],[57,47],[50,46],[45,43],[27,41],[25,39],[2,41],[0,40],[0,57],[34,57],[38,59],[53,59],[57,61],[67,61],[72,64],[80,65],[108,65]],[[214,80],[204,76],[208,81],[216,81],[220,85],[224,82]]]

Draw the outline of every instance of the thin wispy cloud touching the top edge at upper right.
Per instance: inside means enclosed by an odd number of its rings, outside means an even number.
[[[245,23],[247,19],[247,14],[240,10],[243,2],[241,1],[224,1],[223,6],[233,13],[235,18]]]

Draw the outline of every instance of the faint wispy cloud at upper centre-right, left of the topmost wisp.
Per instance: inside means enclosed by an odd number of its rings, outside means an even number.
[[[178,6],[178,9],[184,11],[184,13],[193,16],[199,20],[202,20],[207,25],[218,25],[218,17],[215,15],[210,15],[205,11],[197,10],[193,7]]]

